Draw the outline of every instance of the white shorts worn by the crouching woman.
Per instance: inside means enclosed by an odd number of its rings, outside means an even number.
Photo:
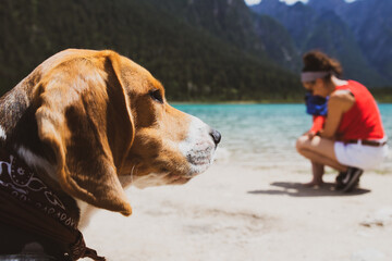
[[[367,146],[358,144],[334,142],[334,152],[339,163],[363,170],[377,167],[389,153],[388,146]]]

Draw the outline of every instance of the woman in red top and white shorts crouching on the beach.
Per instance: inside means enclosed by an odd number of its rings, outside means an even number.
[[[302,83],[314,96],[329,97],[323,129],[297,139],[297,151],[311,161],[313,179],[321,186],[324,165],[338,170],[336,189],[352,190],[364,170],[388,154],[387,136],[377,103],[362,84],[343,80],[340,63],[319,51],[303,57]]]

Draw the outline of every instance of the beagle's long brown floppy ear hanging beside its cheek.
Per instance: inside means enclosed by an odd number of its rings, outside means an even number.
[[[36,89],[36,120],[40,140],[54,152],[61,187],[98,208],[130,215],[118,171],[135,129],[120,70],[117,53],[58,66]]]

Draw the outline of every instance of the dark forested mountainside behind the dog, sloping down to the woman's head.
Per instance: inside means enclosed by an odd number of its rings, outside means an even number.
[[[162,82],[171,100],[301,97],[297,76],[273,62],[266,51],[268,40],[259,41],[260,34],[249,29],[257,15],[242,0],[213,4],[201,0],[2,0],[1,92],[51,54],[87,48],[113,49],[145,66]],[[205,11],[206,16],[201,15]],[[265,17],[259,21],[259,26],[279,25]]]

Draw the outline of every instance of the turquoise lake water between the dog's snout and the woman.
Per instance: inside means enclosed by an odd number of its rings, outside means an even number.
[[[296,138],[311,126],[304,104],[176,104],[218,129],[222,141],[218,160],[257,166],[303,165]],[[379,105],[384,128],[392,138],[392,104]],[[391,161],[391,160],[389,160]]]

